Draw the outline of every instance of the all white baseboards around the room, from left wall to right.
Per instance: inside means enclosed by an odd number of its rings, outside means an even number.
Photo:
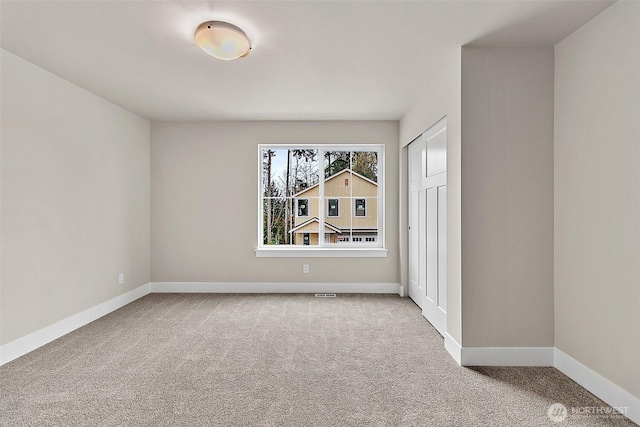
[[[374,293],[404,294],[399,283],[151,282],[22,338],[0,346],[0,366],[74,331],[149,293]],[[444,346],[462,366],[554,366],[607,404],[626,408],[640,424],[640,398],[553,347],[462,347],[445,333]]]

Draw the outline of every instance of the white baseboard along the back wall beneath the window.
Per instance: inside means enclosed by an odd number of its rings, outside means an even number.
[[[152,293],[398,294],[399,283],[151,282]]]

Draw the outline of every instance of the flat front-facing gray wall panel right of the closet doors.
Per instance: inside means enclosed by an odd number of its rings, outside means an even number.
[[[462,345],[553,346],[553,48],[462,48]]]

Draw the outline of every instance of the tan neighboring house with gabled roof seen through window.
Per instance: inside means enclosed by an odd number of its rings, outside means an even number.
[[[294,245],[317,245],[319,239],[320,185],[293,195]],[[378,241],[378,184],[351,169],[324,180],[324,242]]]

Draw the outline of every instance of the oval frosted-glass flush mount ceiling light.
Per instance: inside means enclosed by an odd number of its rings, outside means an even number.
[[[251,42],[245,32],[223,21],[198,25],[193,41],[209,55],[225,61],[245,57],[251,51]]]

